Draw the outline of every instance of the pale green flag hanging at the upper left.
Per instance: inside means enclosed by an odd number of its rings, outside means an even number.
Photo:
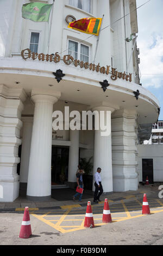
[[[53,4],[38,2],[23,4],[22,17],[35,22],[48,22]]]

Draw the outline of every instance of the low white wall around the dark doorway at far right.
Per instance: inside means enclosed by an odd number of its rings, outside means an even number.
[[[153,181],[163,181],[163,145],[138,145],[139,182],[142,181],[142,159],[153,159]]]

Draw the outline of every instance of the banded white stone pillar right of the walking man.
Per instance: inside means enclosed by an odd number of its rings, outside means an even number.
[[[113,190],[137,190],[136,112],[118,110],[112,115],[111,124]]]

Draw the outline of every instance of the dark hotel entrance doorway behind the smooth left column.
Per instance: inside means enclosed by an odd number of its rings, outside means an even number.
[[[52,185],[67,181],[68,155],[69,148],[52,146]]]

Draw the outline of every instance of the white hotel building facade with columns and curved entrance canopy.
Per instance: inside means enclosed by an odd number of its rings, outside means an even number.
[[[105,193],[137,190],[137,144],[150,138],[160,105],[139,84],[134,40],[125,40],[138,32],[136,1],[55,0],[48,23],[22,19],[30,2],[37,1],[0,2],[0,201],[14,201],[20,186],[30,200],[48,199],[62,169],[70,186],[76,182],[81,157],[92,157],[92,174],[101,167]],[[69,15],[104,15],[95,63],[97,37],[67,28]],[[103,121],[109,113],[110,133],[52,130],[53,112],[65,106],[104,111]]]

